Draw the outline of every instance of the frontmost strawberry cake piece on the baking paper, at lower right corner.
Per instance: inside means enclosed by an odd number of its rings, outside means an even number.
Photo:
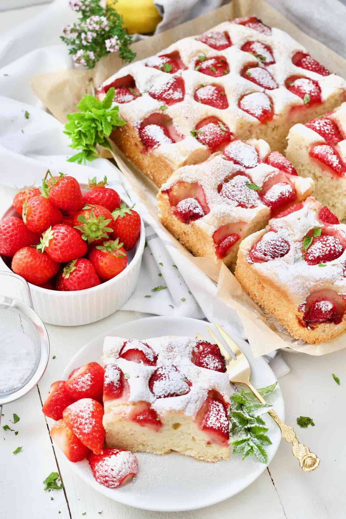
[[[236,278],[296,339],[319,344],[346,330],[346,225],[312,197],[242,241]]]

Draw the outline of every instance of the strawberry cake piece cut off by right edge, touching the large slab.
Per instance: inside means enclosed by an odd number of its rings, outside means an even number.
[[[340,220],[346,218],[346,103],[337,110],[297,124],[288,133],[286,155],[297,173],[311,176],[314,195]]]

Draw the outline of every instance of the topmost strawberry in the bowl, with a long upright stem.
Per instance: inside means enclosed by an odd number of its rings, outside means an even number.
[[[48,175],[50,179],[47,181]],[[64,211],[78,211],[83,207],[83,197],[78,181],[70,175],[59,173],[59,177],[53,176],[47,170],[43,180],[42,190],[45,197],[54,207]]]

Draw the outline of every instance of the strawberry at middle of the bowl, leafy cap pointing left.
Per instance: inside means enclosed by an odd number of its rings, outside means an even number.
[[[37,249],[44,252],[53,261],[67,263],[75,258],[84,256],[88,247],[76,229],[70,225],[57,224],[43,233]]]

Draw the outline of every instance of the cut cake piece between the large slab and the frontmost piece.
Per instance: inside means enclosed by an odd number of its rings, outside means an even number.
[[[234,269],[242,238],[313,192],[263,140],[233,140],[222,153],[175,171],[158,194],[161,222],[195,256]]]

